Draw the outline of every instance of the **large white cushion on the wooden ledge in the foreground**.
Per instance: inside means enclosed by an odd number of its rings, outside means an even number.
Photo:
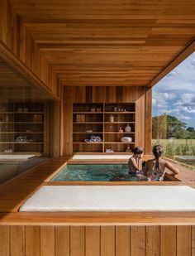
[[[194,211],[189,186],[42,186],[20,211]]]

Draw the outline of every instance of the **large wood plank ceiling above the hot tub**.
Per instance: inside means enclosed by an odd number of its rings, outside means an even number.
[[[61,85],[149,85],[195,35],[194,0],[10,2]]]

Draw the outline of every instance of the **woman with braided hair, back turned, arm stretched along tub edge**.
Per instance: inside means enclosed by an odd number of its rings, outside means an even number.
[[[153,154],[155,159],[148,160],[145,163],[145,176],[147,176],[147,181],[163,181],[165,168],[172,171],[170,175],[178,174],[178,168],[174,167],[170,162],[163,159],[164,148],[163,146],[156,145],[153,147]]]

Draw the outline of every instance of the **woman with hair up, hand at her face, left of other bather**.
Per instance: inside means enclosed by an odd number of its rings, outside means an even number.
[[[135,147],[133,153],[133,156],[130,157],[128,162],[129,174],[132,178],[136,178],[137,181],[147,181],[142,171],[143,162],[141,160],[141,158],[144,157],[144,148]]]

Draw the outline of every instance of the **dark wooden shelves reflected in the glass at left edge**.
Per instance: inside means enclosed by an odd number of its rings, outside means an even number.
[[[0,152],[44,151],[44,104],[0,104]]]

